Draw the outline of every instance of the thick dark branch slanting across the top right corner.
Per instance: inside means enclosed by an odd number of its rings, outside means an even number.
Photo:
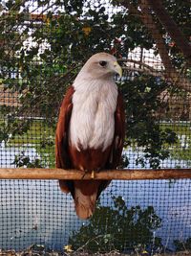
[[[180,51],[184,55],[185,59],[191,64],[191,45],[189,45],[187,38],[182,34],[175,21],[170,17],[169,13],[166,12],[160,0],[156,5],[155,0],[148,0],[148,3],[152,10],[156,13],[159,18],[159,22],[165,28],[166,32],[176,42]]]

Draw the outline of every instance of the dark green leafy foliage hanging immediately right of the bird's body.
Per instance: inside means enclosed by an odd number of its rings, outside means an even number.
[[[162,130],[157,118],[162,107],[159,91],[166,86],[165,81],[138,74],[133,81],[124,81],[121,85],[127,113],[127,146],[143,149],[137,164],[145,167],[148,160],[151,168],[159,168],[160,160],[169,156],[164,145],[177,142],[176,133],[170,128]]]

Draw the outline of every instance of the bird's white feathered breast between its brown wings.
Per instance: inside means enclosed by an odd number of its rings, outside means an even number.
[[[115,81],[76,81],[74,90],[70,143],[78,151],[104,151],[114,138],[117,85]]]

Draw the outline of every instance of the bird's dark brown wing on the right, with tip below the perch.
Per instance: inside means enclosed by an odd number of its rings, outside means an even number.
[[[113,144],[111,146],[110,156],[106,163],[105,169],[112,170],[116,169],[121,158],[125,138],[125,111],[123,105],[123,99],[120,92],[117,96],[117,109],[115,112],[115,134]],[[100,193],[110,184],[111,180],[102,181],[99,185],[97,198]]]

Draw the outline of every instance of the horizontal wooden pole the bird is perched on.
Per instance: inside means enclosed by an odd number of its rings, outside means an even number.
[[[95,179],[169,179],[191,178],[191,169],[160,169],[160,170],[108,170],[95,174]],[[81,171],[63,169],[14,169],[1,168],[0,179],[92,179],[91,174],[84,175]]]

